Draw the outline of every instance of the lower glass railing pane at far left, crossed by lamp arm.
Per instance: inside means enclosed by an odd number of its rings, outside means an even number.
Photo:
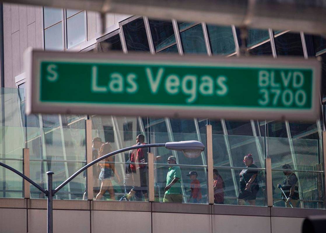
[[[23,172],[22,160],[4,160],[2,163]],[[0,166],[0,198],[23,198],[23,179],[16,173]]]

